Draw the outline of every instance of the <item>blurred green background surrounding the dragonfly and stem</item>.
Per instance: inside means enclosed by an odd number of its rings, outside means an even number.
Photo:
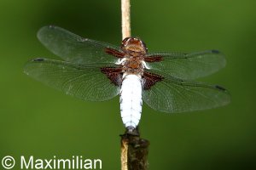
[[[119,1],[0,1],[0,159],[84,156],[102,159],[102,169],[120,169],[125,129],[118,97],[84,102],[23,73],[28,59],[57,59],[38,42],[40,27],[61,26],[118,45],[120,24]],[[143,105],[149,169],[255,168],[256,1],[132,0],[131,31],[149,51],[217,48],[227,59],[222,71],[201,81],[228,88],[230,105],[172,115]]]

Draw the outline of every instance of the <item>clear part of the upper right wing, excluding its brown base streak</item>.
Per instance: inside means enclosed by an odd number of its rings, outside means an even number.
[[[165,73],[172,77],[193,80],[206,77],[225,66],[224,54],[217,50],[198,53],[150,53],[148,57],[161,56],[159,62],[147,62],[154,73]]]

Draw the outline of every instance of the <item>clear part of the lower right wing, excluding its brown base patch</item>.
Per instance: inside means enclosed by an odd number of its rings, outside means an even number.
[[[161,82],[143,90],[143,101],[156,111],[199,111],[227,105],[230,94],[219,86],[164,77]]]

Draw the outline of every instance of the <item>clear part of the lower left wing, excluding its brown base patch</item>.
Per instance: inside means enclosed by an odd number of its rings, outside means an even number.
[[[104,101],[119,94],[98,65],[73,65],[53,59],[33,59],[26,63],[25,73],[66,94],[90,101]]]

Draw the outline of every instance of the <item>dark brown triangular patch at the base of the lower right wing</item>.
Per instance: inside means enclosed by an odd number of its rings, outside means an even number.
[[[164,77],[161,77],[160,75],[145,71],[143,73],[143,88],[148,90],[154,86],[156,82],[162,81],[163,78]]]

